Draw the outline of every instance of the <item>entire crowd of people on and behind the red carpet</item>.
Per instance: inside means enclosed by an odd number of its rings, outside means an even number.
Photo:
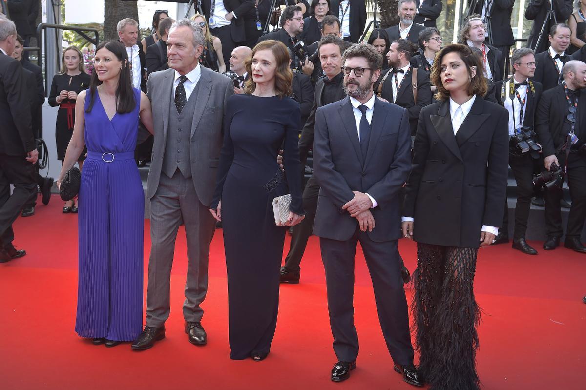
[[[555,1],[556,12],[567,2]],[[77,334],[106,347],[131,341],[137,351],[165,338],[183,224],[185,333],[205,345],[207,264],[221,221],[230,358],[267,358],[279,285],[299,283],[315,234],[338,358],[332,381],[346,380],[356,367],[353,268],[360,242],[393,370],[415,386],[478,389],[473,279],[479,247],[509,242],[509,166],[517,182],[512,248],[537,254],[525,239],[536,190],[546,210],[543,249],[560,245],[567,177],[564,246],[586,253],[582,2],[558,19],[573,15],[574,22],[548,26],[543,40],[532,35],[543,50],[513,50],[512,76],[505,59],[514,43],[506,18],[513,1],[475,2],[459,42],[446,46],[435,26],[439,0],[400,0],[400,23],[374,29],[366,43],[358,42],[364,1],[301,1],[277,11],[267,0],[212,0],[190,19],[157,11],[152,35],[142,40],[135,20],[120,20],[119,40],[92,53],[91,74],[84,53],[67,47],[49,104],[59,107],[57,187],[75,164],[82,172],[79,198],[63,207],[79,213]],[[546,3],[532,0],[527,18],[540,18]],[[280,28],[263,34],[270,15]],[[1,262],[26,254],[13,247],[11,224],[34,214],[38,189],[48,203],[53,184],[38,173],[45,91],[40,69],[22,57],[24,46],[15,23],[0,16]],[[147,163],[151,252],[143,328],[145,197],[137,166]],[[280,226],[273,200],[287,194]],[[398,252],[400,238],[417,242],[413,276]],[[403,289],[410,279],[417,366]]]

